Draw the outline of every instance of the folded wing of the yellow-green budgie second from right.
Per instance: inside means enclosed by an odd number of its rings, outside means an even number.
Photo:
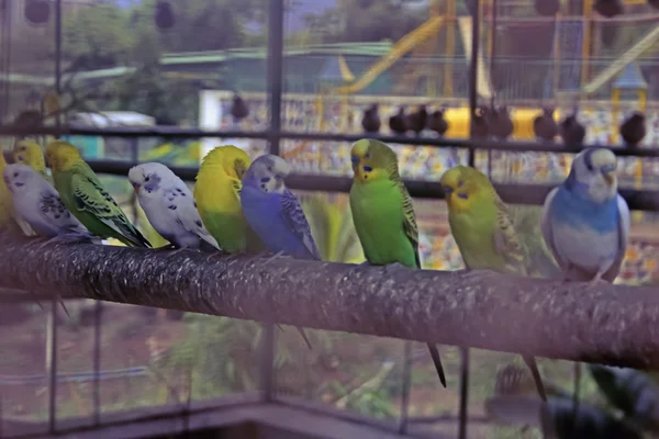
[[[526,275],[524,248],[511,221],[509,209],[499,195],[493,195],[496,207],[496,226],[493,236],[494,250],[504,258],[510,273]]]

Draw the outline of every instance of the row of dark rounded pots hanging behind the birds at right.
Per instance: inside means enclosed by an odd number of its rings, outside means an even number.
[[[424,130],[429,130],[439,136],[448,131],[448,121],[444,117],[445,110],[439,109],[428,112],[426,105],[420,105],[415,112],[405,113],[401,106],[394,115],[389,117],[389,128],[398,135],[409,132],[421,135]],[[533,130],[538,139],[554,142],[560,135],[566,145],[582,145],[585,139],[585,126],[578,121],[578,111],[568,114],[560,123],[554,119],[554,108],[544,108],[543,113],[533,121]],[[378,104],[373,103],[364,111],[361,127],[367,134],[377,134],[381,128]],[[498,138],[505,140],[513,135],[515,126],[506,105],[478,106],[473,119],[474,138]],[[634,112],[625,119],[619,127],[621,137],[626,145],[637,146],[646,136],[646,117],[640,112]]]

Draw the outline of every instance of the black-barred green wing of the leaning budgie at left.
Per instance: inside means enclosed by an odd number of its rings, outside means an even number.
[[[131,224],[114,199],[93,176],[74,173],[71,191],[76,209],[88,212],[98,221],[138,247],[150,247],[142,234]]]

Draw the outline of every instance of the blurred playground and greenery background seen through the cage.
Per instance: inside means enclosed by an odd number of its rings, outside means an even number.
[[[283,32],[272,42],[278,7]],[[659,146],[658,7],[656,0],[0,0],[0,142],[5,151],[22,137],[44,145],[49,136],[31,133],[67,127],[63,137],[81,149],[155,245],[165,240],[135,202],[125,177],[130,164],[194,169],[214,146],[234,144],[254,158],[270,140],[317,188],[323,177],[351,177],[350,142],[340,135],[361,135],[373,104],[381,135],[414,138],[413,145],[404,138],[392,144],[403,178],[438,181],[471,160],[494,182],[518,185],[522,203],[534,184],[560,182],[573,157],[558,133],[537,140],[534,121],[543,108],[557,123],[576,115],[584,144]],[[279,117],[272,117],[273,99],[281,100]],[[517,142],[517,150],[465,147],[476,137],[476,104],[507,106],[512,131],[498,137]],[[429,113],[427,124],[390,128],[400,108],[413,116],[420,105]],[[632,146],[619,126],[635,111],[645,114],[646,135]],[[294,138],[300,133],[308,136]],[[562,149],[524,146],[536,142]],[[623,188],[658,189],[659,159],[651,156],[619,158]],[[323,257],[362,262],[347,194],[295,189]],[[460,269],[446,206],[434,196],[415,198],[423,266]],[[652,210],[633,212],[618,282],[658,278]],[[263,391],[258,323],[82,300],[66,300],[67,315],[52,312],[43,297],[42,305],[20,292],[0,297],[7,297],[0,306],[0,437],[130,424],[129,415],[145,407],[180,415],[193,403],[235,406]],[[308,334],[313,350],[294,328],[277,334],[276,398],[368,425],[380,431],[373,437],[395,432],[403,342]],[[460,356],[444,346],[442,358],[446,390],[425,346],[414,345],[407,435],[457,437]],[[569,396],[572,365],[539,364],[555,393]],[[506,380],[515,392],[534,395],[518,356],[474,349],[469,372],[470,438],[540,437],[535,414],[513,409],[511,416],[495,398]],[[615,413],[604,408],[591,374],[581,394],[602,416]]]

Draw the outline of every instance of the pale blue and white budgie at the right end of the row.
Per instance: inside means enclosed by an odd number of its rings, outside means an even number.
[[[617,193],[616,157],[589,148],[570,175],[547,195],[541,228],[568,281],[613,282],[629,238],[629,207]]]

